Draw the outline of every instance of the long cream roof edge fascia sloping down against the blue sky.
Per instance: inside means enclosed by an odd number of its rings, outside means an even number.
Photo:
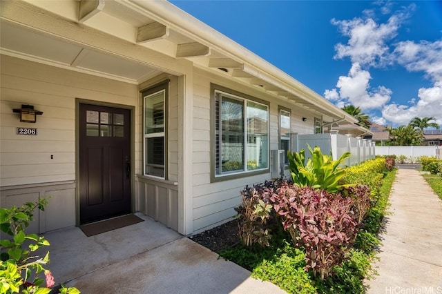
[[[220,32],[214,30],[202,21],[177,8],[168,1],[145,1],[145,0],[122,0],[128,5],[136,4],[144,10],[150,12],[151,17],[157,21],[166,24],[171,29],[176,30],[184,35],[195,39],[209,48],[213,48],[223,55],[242,63],[242,70],[244,72],[264,79],[278,86],[288,93],[293,93],[305,101],[309,101],[320,108],[322,108],[329,116],[341,118],[349,123],[358,122],[357,119],[348,115],[347,112],[336,107],[324,97],[318,95],[300,81],[294,79],[287,73],[283,72],[276,66],[273,66],[265,59],[262,59],[255,53],[247,50],[240,44],[236,43],[229,37],[222,35]],[[134,7],[135,9],[135,7]]]

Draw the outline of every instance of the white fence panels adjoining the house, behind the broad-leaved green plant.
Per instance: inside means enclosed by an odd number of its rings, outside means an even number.
[[[334,160],[338,159],[343,153],[352,153],[352,157],[346,160],[345,165],[355,166],[361,164],[363,161],[374,159],[376,152],[374,149],[374,142],[361,137],[351,137],[349,135],[340,135],[334,131],[327,134],[314,135],[298,135],[294,134],[294,145],[292,150],[299,152],[302,148],[305,149],[305,157],[311,157],[307,144],[314,148],[320,147],[323,154],[332,152]]]

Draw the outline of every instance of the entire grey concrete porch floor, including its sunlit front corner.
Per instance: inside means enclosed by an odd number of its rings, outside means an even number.
[[[57,284],[81,293],[285,293],[144,215],[144,222],[86,237],[46,233]]]

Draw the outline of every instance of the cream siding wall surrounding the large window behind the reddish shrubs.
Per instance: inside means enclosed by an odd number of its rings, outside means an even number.
[[[270,103],[270,149],[278,149],[278,107],[291,109],[292,132],[313,133],[314,113],[300,110],[289,101],[278,100],[259,90],[242,84],[233,84],[231,81],[218,75],[195,69],[193,86],[193,232],[198,233],[205,229],[217,226],[231,220],[236,215],[234,207],[241,202],[240,191],[244,186],[271,179],[270,173],[252,177],[240,177],[222,182],[211,183],[211,137],[210,117],[211,83],[236,90],[258,99],[271,101]],[[307,121],[302,121],[307,117]],[[269,155],[270,156],[270,155]]]

